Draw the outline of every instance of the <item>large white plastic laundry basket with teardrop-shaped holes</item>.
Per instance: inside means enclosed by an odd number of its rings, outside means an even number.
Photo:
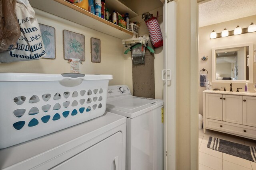
[[[0,73],[0,149],[101,116],[112,75]]]

